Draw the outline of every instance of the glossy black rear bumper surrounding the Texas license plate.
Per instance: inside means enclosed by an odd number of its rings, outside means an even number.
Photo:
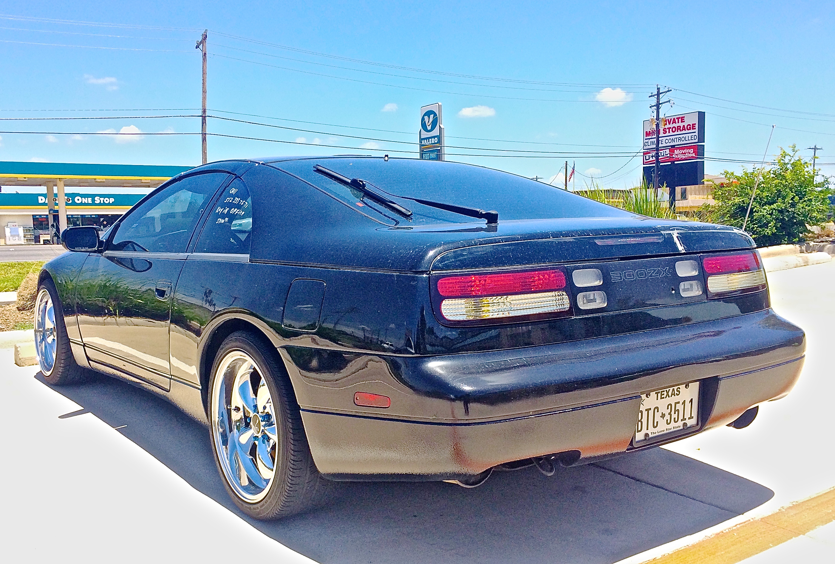
[[[804,350],[802,330],[764,310],[521,350],[368,357],[338,389],[390,395],[392,410],[328,409],[303,393],[300,404],[316,466],[331,479],[455,479],[532,456],[572,452],[583,462],[629,451],[640,395],[694,380],[698,428],[640,448],[726,425],[786,395]]]

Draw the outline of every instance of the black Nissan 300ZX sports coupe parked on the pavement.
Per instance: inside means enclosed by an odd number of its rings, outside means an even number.
[[[206,164],[63,242],[45,379],[99,370],[204,421],[262,519],[331,481],[478,486],[746,426],[804,357],[742,231],[467,164]]]

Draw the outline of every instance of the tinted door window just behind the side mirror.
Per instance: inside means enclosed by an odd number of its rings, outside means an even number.
[[[229,174],[197,174],[171,184],[119,224],[112,250],[185,253],[205,204]]]

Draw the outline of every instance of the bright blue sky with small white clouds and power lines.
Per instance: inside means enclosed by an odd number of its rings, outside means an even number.
[[[299,143],[210,137],[210,160],[414,151],[420,106],[441,102],[447,144],[475,148],[450,159],[546,181],[568,159],[623,187],[640,178],[630,157],[660,83],[676,88],[666,113],[707,112],[709,158],[762,159],[776,124],[770,154],[817,144],[819,162],[835,163],[829,3],[12,0],[0,12],[0,117],[119,116],[5,121],[43,133],[0,133],[2,160],[200,164],[199,137],[147,134],[199,132],[199,119],[138,116],[200,107],[195,41],[208,28],[210,113],[281,126],[210,119],[210,133]],[[54,134],[109,131],[131,134]],[[546,153],[472,156],[499,149]],[[706,173],[741,166],[708,160]]]

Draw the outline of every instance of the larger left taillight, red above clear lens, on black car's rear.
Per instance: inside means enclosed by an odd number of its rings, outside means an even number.
[[[445,276],[435,283],[438,313],[453,324],[522,321],[571,314],[563,269]]]

